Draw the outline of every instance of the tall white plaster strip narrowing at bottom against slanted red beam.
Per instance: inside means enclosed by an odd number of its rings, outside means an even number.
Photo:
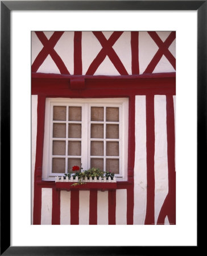
[[[155,223],[168,193],[166,96],[155,95]]]

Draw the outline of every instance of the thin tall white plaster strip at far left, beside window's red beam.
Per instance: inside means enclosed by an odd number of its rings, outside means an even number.
[[[36,130],[37,130],[37,108],[38,108],[38,96],[31,96],[31,223],[33,222],[33,205],[34,205],[34,172],[35,172],[35,158],[36,158]]]

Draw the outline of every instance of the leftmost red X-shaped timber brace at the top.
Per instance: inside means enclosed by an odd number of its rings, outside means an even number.
[[[44,60],[47,58],[48,55],[50,55],[57,65],[57,68],[59,69],[61,74],[68,74],[69,71],[67,67],[65,67],[65,64],[61,57],[57,54],[54,47],[56,43],[59,41],[61,36],[63,35],[64,31],[56,31],[52,34],[51,38],[49,40],[45,36],[44,32],[42,31],[36,31],[36,35],[38,36],[40,42],[43,44],[43,49],[39,52],[38,56],[32,63],[32,72],[38,71],[40,65],[43,64]]]

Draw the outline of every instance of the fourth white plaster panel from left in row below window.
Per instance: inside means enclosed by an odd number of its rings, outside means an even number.
[[[98,225],[109,224],[108,208],[109,208],[108,191],[105,191],[105,192],[98,191],[97,193],[97,224]]]

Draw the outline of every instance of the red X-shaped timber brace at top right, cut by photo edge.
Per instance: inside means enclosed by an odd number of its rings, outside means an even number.
[[[172,53],[168,49],[169,46],[172,44],[172,42],[175,40],[175,37],[176,37],[175,31],[171,32],[171,34],[169,34],[168,38],[164,42],[160,39],[159,35],[155,31],[150,31],[150,32],[148,32],[148,34],[151,36],[151,38],[157,44],[159,49],[155,53],[155,56],[150,61],[150,64],[148,64],[144,73],[152,73],[163,55],[169,60],[172,67],[174,69],[176,69],[176,67],[175,67],[175,64],[176,64],[175,57],[172,55]]]

